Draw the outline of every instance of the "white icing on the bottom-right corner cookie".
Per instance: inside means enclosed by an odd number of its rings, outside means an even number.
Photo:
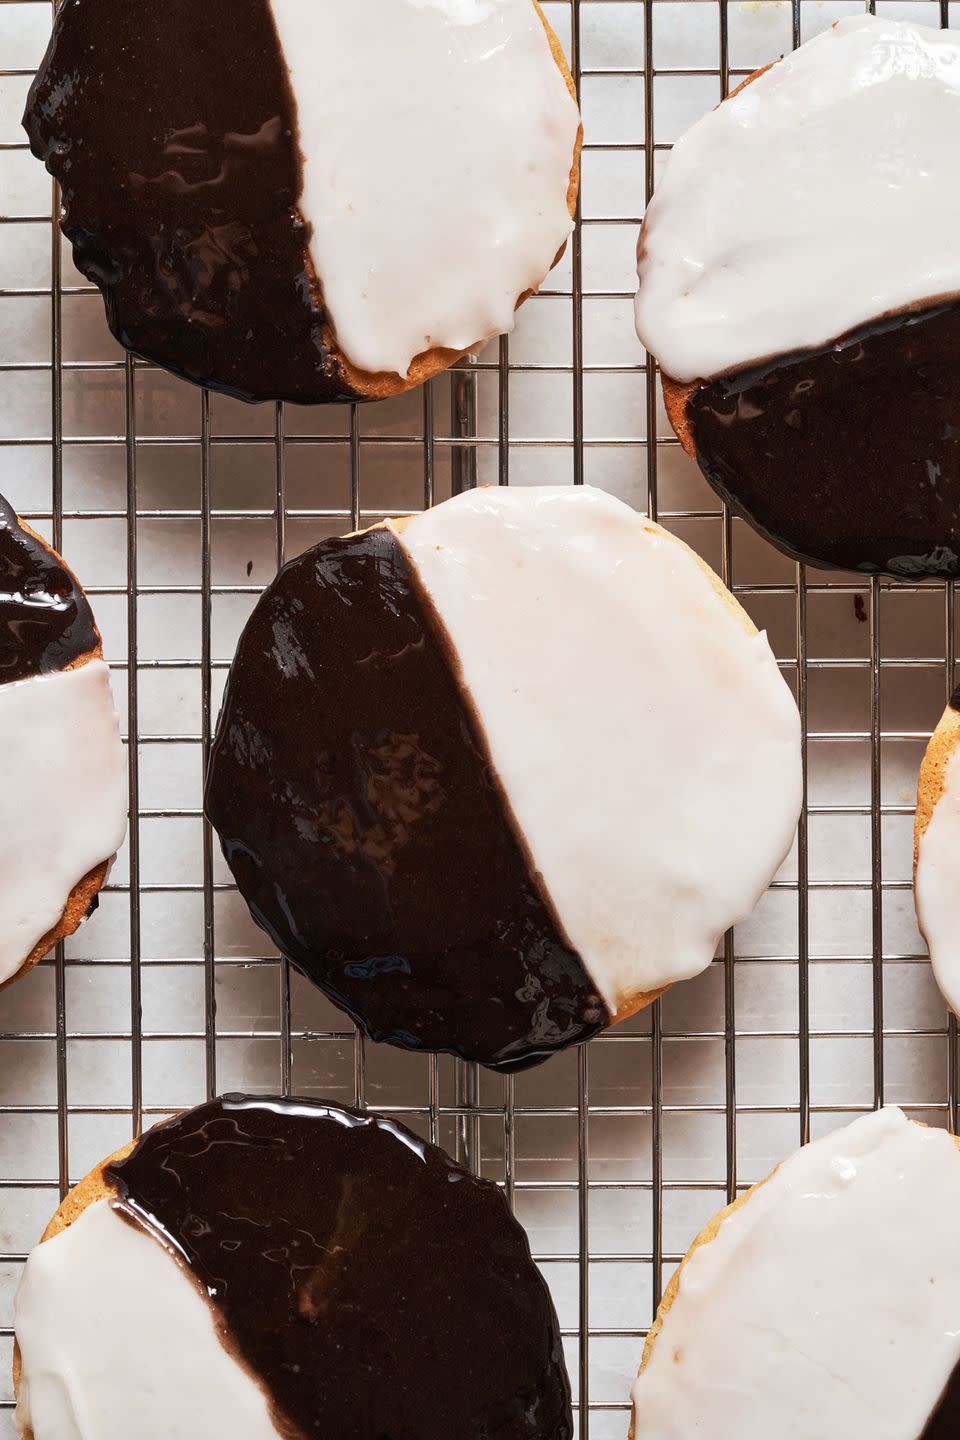
[[[681,1272],[635,1440],[918,1440],[960,1361],[960,1155],[879,1110],[792,1155]]]

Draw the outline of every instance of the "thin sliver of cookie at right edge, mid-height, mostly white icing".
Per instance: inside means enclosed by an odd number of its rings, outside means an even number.
[[[914,822],[914,900],[934,979],[960,1014],[960,691],[940,717],[920,766]]]

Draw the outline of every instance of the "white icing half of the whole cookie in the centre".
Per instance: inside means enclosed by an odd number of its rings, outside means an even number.
[[[476,490],[400,528],[607,1008],[697,975],[800,811],[800,723],[766,635],[599,490]]]

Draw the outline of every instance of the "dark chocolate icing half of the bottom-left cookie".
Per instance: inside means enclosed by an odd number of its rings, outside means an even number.
[[[284,1436],[569,1440],[557,1318],[488,1181],[402,1125],[226,1096],[107,1178],[189,1266]]]

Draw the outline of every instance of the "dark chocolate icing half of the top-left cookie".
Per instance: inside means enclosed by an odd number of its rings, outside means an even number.
[[[121,344],[245,400],[354,395],[268,0],[65,0],[23,124]]]

